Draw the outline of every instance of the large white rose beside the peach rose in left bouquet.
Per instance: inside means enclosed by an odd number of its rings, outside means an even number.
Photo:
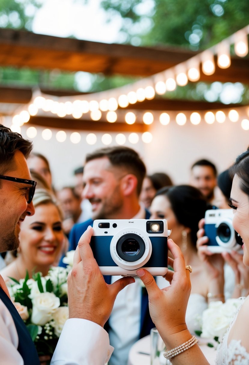
[[[31,322],[44,326],[52,318],[52,313],[60,307],[60,299],[54,293],[39,293],[32,299]]]

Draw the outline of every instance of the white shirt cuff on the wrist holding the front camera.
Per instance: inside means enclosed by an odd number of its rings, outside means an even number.
[[[113,350],[108,333],[99,324],[70,318],[64,324],[51,365],[104,365]]]

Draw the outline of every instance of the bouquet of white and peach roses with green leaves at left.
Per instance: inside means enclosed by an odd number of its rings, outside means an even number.
[[[20,281],[11,278],[11,299],[26,324],[39,356],[53,356],[68,319],[67,277],[70,269],[68,264],[67,268],[51,268],[45,277],[38,272],[32,278],[27,273]]]

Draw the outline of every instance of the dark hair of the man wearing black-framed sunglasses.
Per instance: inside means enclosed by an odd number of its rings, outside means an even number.
[[[28,158],[32,150],[32,142],[24,139],[19,133],[0,124],[0,174],[14,169],[14,155],[16,151],[23,153]]]

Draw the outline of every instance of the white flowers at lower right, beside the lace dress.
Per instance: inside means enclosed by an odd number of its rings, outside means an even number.
[[[211,301],[208,308],[202,314],[202,331],[196,334],[203,338],[214,338],[220,343],[231,321],[243,303],[243,298]],[[211,343],[208,346],[213,347]]]

